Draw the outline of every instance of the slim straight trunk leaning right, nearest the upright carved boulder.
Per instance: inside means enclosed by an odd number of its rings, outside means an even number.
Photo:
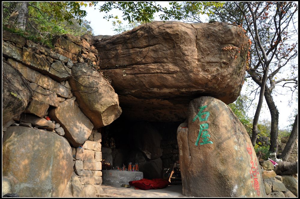
[[[265,94],[265,85],[267,83],[269,67],[266,67],[266,68],[267,69],[265,70],[264,75],[262,76],[262,83],[261,83],[261,85],[259,85],[260,86],[259,99],[258,99],[255,115],[253,118],[252,137],[251,137],[251,143],[252,143],[253,147],[256,143],[256,138],[257,138],[257,134],[258,134],[258,129],[257,129],[258,119],[259,119],[260,111],[262,109],[262,102],[263,102],[264,94]]]

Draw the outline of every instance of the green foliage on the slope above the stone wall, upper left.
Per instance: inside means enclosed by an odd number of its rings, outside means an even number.
[[[88,6],[84,2],[26,2],[28,13],[26,14],[26,29],[19,29],[17,23],[10,24],[11,14],[16,9],[18,2],[2,2],[2,26],[6,30],[19,33],[22,36],[52,46],[51,39],[55,35],[70,33],[81,36],[93,34],[90,22],[83,19],[86,11],[82,6]],[[23,2],[25,3],[25,2]],[[89,4],[90,6],[92,3]]]

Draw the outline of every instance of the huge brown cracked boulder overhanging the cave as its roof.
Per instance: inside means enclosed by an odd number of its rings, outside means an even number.
[[[179,121],[191,99],[240,94],[248,37],[226,23],[152,22],[94,44],[104,76],[135,120]]]

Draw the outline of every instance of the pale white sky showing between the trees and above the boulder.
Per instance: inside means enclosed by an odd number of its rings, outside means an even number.
[[[100,2],[99,2],[100,4]],[[167,6],[168,2],[167,1],[160,1],[159,4],[161,4],[162,6]],[[93,28],[94,30],[94,35],[115,35],[117,34],[115,31],[113,31],[114,26],[112,23],[112,19],[110,21],[107,21],[107,19],[103,19],[104,17],[104,13],[100,13],[100,11],[95,7],[86,7],[84,8],[84,10],[86,10],[87,12],[87,16],[85,17],[86,20],[90,21],[90,26]],[[122,11],[113,9],[112,11],[109,12],[109,14],[114,14],[117,15],[119,17],[119,19],[122,19]],[[160,20],[158,17],[158,14],[156,14],[155,16],[155,20]],[[123,21],[123,20],[121,20]],[[203,18],[203,22],[207,22],[207,20],[205,20],[205,18]],[[128,24],[127,22],[124,22],[124,25]],[[297,71],[298,73],[298,71]],[[243,85],[242,87],[242,91],[241,94],[245,94],[248,95],[249,92],[246,91],[246,87],[247,87],[247,82]],[[291,100],[291,95],[290,92],[286,92],[286,89],[282,89],[280,88],[280,86],[276,86],[276,90],[277,93],[274,92],[273,94],[273,99],[275,101],[275,104],[277,106],[277,109],[279,111],[279,129],[283,129],[286,126],[288,126],[291,122],[288,121],[291,119],[290,115],[293,115],[293,109],[298,107],[298,103],[294,102],[292,104],[289,105],[289,101]],[[296,95],[296,94],[294,94]],[[252,94],[250,97],[254,97],[254,94]],[[258,97],[256,96],[256,100],[253,101],[253,103],[258,103]],[[255,114],[255,110],[256,107],[252,106],[252,108],[250,108],[248,110],[248,116],[249,117],[253,117]],[[269,109],[267,107],[267,104],[264,100],[263,103],[263,107],[262,107],[262,111],[259,117],[259,120],[263,120],[263,119],[267,119],[269,121],[271,121],[271,116],[270,116],[270,112]],[[294,118],[293,118],[294,120]]]

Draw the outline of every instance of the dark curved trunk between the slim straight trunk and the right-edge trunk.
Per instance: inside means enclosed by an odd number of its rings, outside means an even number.
[[[278,150],[278,120],[279,120],[279,112],[274,103],[273,97],[271,96],[271,92],[268,88],[265,89],[265,100],[267,102],[268,108],[271,114],[271,138],[270,138],[270,151],[273,153],[277,153]]]

